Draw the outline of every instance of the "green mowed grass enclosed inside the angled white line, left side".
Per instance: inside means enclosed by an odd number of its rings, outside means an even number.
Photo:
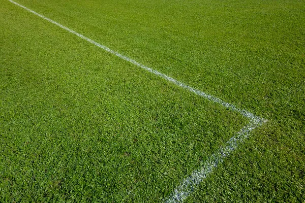
[[[248,122],[28,14],[2,8],[2,201],[162,200]]]

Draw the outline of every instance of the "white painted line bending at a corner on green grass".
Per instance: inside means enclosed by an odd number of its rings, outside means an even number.
[[[74,35],[86,40],[87,42],[89,43],[92,43],[102,49],[104,49],[105,51],[113,54],[113,55],[116,55],[118,56],[119,58],[121,59],[124,59],[130,63],[133,63],[139,67],[141,67],[142,69],[150,72],[150,73],[153,73],[169,82],[172,82],[174,83],[175,85],[177,86],[180,86],[184,89],[187,89],[199,96],[202,96],[210,101],[213,101],[215,103],[218,103],[220,104],[221,106],[227,108],[227,109],[230,109],[232,111],[235,111],[235,112],[238,112],[240,113],[241,115],[247,117],[250,119],[250,123],[248,125],[246,125],[245,127],[243,127],[239,132],[237,132],[235,134],[235,136],[233,136],[224,146],[222,146],[217,152],[215,152],[214,154],[212,154],[211,157],[209,157],[205,163],[203,164],[203,167],[200,168],[200,170],[196,170],[192,173],[191,176],[189,176],[188,178],[184,179],[181,181],[180,185],[174,190],[174,192],[172,193],[171,196],[169,196],[165,201],[166,202],[181,202],[183,201],[184,199],[186,199],[188,197],[188,195],[194,191],[194,187],[197,186],[203,179],[205,179],[210,173],[212,173],[212,171],[214,170],[214,168],[216,168],[218,166],[219,163],[223,162],[224,158],[226,156],[228,156],[232,151],[234,151],[238,144],[239,143],[242,143],[243,140],[245,140],[246,138],[248,138],[249,136],[249,133],[255,129],[256,127],[262,125],[263,122],[266,122],[265,119],[261,118],[261,117],[258,117],[258,116],[255,116],[254,114],[246,111],[246,110],[241,110],[237,107],[235,107],[234,105],[232,104],[229,104],[229,103],[226,103],[225,101],[223,101],[222,99],[220,98],[217,98],[215,96],[212,96],[212,95],[209,95],[209,94],[206,94],[200,90],[197,90],[197,89],[194,89],[193,87],[189,86],[189,85],[186,85],[180,81],[177,81],[176,79],[174,78],[171,78],[163,73],[160,73],[159,71],[156,71],[154,69],[151,69],[150,67],[147,67],[146,65],[143,65],[137,61],[135,61],[134,59],[131,59],[127,56],[124,56],[116,51],[113,51],[111,50],[110,48],[104,46],[104,45],[101,45],[97,42],[95,42],[94,40],[91,40],[83,35],[81,35],[80,33],[62,25],[62,24],[59,24],[57,22],[55,22],[54,20],[51,20],[50,18],[47,18],[39,13],[36,13],[35,11],[31,10],[31,9],[28,9],[26,8],[25,6],[22,6],[12,0],[8,0],[9,2],[73,33]]]

